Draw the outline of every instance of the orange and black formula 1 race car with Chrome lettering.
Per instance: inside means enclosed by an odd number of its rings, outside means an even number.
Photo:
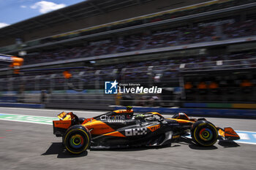
[[[233,128],[217,128],[205,118],[189,118],[184,113],[165,118],[158,112],[134,114],[132,107],[107,112],[89,119],[61,112],[53,120],[53,134],[62,136],[64,147],[73,154],[91,148],[162,146],[188,133],[192,140],[209,147],[223,140],[240,139]]]

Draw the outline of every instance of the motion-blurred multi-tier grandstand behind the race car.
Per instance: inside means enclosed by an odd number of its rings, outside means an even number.
[[[0,36],[0,53],[24,58],[20,74],[0,65],[1,102],[256,108],[252,0],[88,0],[1,28]],[[163,92],[105,95],[112,80]]]

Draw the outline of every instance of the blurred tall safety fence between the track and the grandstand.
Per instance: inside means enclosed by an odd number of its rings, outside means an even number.
[[[18,77],[10,74],[0,79],[0,102],[76,108],[109,105],[186,107],[183,103],[254,104],[255,63],[255,59],[248,58],[93,71],[81,69],[69,71],[72,74],[69,79],[60,72],[25,73]],[[105,82],[114,80],[119,85],[135,84],[129,88],[157,86],[162,88],[162,93],[105,94]],[[189,81],[192,81],[192,87],[184,88]],[[218,86],[209,88],[213,81]],[[205,83],[205,88],[197,87],[200,82]],[[244,87],[241,86],[243,83]]]

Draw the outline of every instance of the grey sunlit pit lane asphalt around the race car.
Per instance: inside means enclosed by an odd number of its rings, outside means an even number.
[[[0,113],[56,117],[62,109],[0,108]],[[102,111],[74,111],[93,117]],[[167,117],[167,116],[166,116]],[[214,125],[256,131],[255,121],[207,118]],[[64,151],[51,125],[0,120],[0,169],[256,169],[256,145],[219,143],[197,147],[189,140],[171,147],[89,150],[85,155]]]

